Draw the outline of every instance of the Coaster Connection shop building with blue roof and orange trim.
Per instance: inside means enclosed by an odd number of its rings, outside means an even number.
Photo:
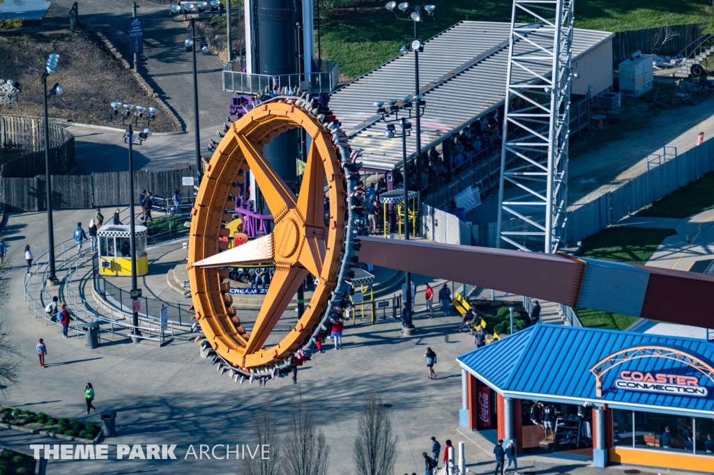
[[[457,358],[461,426],[518,451],[714,472],[714,345],[535,325]]]

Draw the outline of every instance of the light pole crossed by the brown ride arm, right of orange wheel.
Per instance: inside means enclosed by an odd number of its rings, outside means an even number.
[[[386,138],[401,138],[402,139],[402,166],[404,170],[404,239],[409,240],[409,190],[407,187],[406,175],[406,138],[411,136],[411,123],[409,119],[416,118],[417,120],[423,116],[426,102],[421,98],[421,95],[416,94],[413,98],[403,97],[399,101],[390,99],[387,101],[388,106],[383,102],[376,102],[374,106],[377,108],[377,113],[382,116],[383,121],[387,123],[387,130],[384,132]],[[402,116],[400,117],[400,112]],[[393,118],[389,118],[391,113],[394,113]],[[403,114],[407,115],[404,116]],[[396,131],[394,122],[398,122],[401,127],[401,132]],[[416,213],[416,210],[415,210]],[[386,223],[385,223],[386,225]],[[404,276],[404,308],[407,313],[406,323],[409,328],[413,328],[411,323],[411,273],[406,272]]]

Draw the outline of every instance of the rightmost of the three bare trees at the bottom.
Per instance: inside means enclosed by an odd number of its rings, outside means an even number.
[[[362,407],[352,451],[355,471],[357,475],[392,475],[397,436],[392,433],[389,414],[376,394],[368,394]]]

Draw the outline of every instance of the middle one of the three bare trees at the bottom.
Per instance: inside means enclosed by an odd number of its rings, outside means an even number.
[[[310,405],[302,396],[290,405],[290,427],[285,438],[283,473],[286,475],[326,475],[330,447],[325,433],[315,427]]]

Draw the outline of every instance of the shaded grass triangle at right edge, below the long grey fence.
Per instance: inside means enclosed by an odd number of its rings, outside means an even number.
[[[682,188],[663,196],[637,215],[656,218],[686,218],[706,210],[714,210],[714,171],[710,171]]]

